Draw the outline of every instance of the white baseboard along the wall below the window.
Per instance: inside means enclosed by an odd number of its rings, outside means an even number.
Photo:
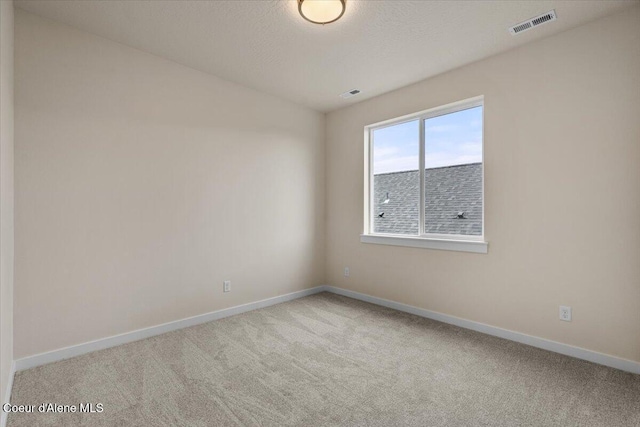
[[[634,362],[633,360],[622,359],[620,357],[598,353],[596,351],[587,350],[585,348],[574,347],[572,345],[563,344],[557,341],[534,337],[520,332],[510,331],[508,329],[502,329],[496,326],[474,322],[472,320],[466,320],[460,317],[450,316],[448,314],[442,314],[436,311],[426,310],[424,308],[418,308],[412,305],[402,304],[388,299],[362,294],[360,292],[337,288],[335,286],[325,286],[324,290],[332,292],[334,294],[354,298],[360,301],[369,302],[371,304],[381,305],[384,307],[393,308],[398,311],[404,311],[406,313],[411,313],[417,316],[426,317],[428,319],[437,320],[439,322],[460,326],[461,328],[471,329],[473,331],[482,332],[484,334],[493,335],[522,344],[527,344],[532,347],[538,347],[543,350],[564,354],[565,356],[571,356],[577,359],[587,360],[589,362],[620,369],[622,371],[640,374],[640,362]]]

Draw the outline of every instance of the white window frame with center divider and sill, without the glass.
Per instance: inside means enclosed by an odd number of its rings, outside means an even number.
[[[425,233],[425,120],[445,114],[456,113],[469,108],[482,106],[482,235],[467,236],[459,234]],[[373,132],[389,126],[419,120],[420,146],[418,151],[420,170],[420,219],[419,234],[417,236],[404,234],[385,234],[373,232]],[[484,235],[484,96],[465,99],[436,108],[420,111],[414,114],[397,117],[374,123],[364,128],[365,165],[364,165],[364,230],[360,236],[362,243],[375,243],[392,246],[408,246],[416,248],[442,249],[462,252],[487,253],[488,242]]]

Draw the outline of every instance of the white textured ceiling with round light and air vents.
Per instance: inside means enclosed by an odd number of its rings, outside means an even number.
[[[425,79],[638,1],[357,1],[339,21],[296,0],[18,0],[17,7],[320,111]],[[555,9],[558,20],[507,28]],[[361,95],[343,100],[350,89]]]

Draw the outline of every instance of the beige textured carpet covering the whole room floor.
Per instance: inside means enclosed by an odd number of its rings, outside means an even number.
[[[640,426],[640,376],[322,293],[16,374],[18,426]]]

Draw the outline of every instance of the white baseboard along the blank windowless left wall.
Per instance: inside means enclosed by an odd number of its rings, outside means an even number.
[[[48,351],[46,353],[24,357],[15,361],[15,370],[24,371],[25,369],[35,368],[36,366],[46,365],[47,363],[57,362],[60,360],[68,359],[70,357],[80,356],[82,354],[91,353],[92,351],[103,350],[105,348],[115,347],[117,345],[126,344],[133,341],[139,341],[144,338],[153,337],[156,335],[164,334],[166,332],[175,331],[177,329],[187,328],[189,326],[211,322],[212,320],[234,316],[236,314],[245,313],[247,311],[269,307],[271,305],[280,304],[282,302],[287,302],[294,299],[306,297],[308,295],[317,294],[318,292],[322,292],[324,290],[326,290],[325,286],[316,286],[315,288],[303,289],[301,291],[279,295],[277,297],[268,298],[261,301],[212,311],[210,313],[200,314],[198,316],[188,317],[186,319],[163,323],[162,325],[158,326],[138,329],[136,331],[126,332],[124,334],[114,335],[112,337],[102,338],[83,344],[72,345],[58,350]]]

